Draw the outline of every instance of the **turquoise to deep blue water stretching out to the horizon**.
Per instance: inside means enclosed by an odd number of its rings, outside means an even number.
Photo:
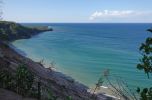
[[[26,24],[33,25],[33,24]],[[34,24],[41,25],[41,24]],[[121,76],[130,86],[152,81],[136,69],[139,45],[150,36],[152,24],[43,24],[54,31],[13,42],[27,57],[55,68],[77,81],[93,86],[104,69]]]

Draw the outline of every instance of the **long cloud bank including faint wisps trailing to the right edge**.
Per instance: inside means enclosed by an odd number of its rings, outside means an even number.
[[[103,10],[95,11],[90,16],[90,20],[144,20],[151,16],[152,12],[142,12],[133,10]]]

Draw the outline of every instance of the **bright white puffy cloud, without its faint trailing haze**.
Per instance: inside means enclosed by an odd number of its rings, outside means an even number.
[[[112,19],[112,18],[127,18],[131,16],[136,16],[136,15],[141,15],[143,14],[142,12],[136,12],[133,10],[123,10],[123,11],[118,11],[118,10],[104,10],[104,11],[96,11],[90,16],[90,20],[95,20],[95,19]]]

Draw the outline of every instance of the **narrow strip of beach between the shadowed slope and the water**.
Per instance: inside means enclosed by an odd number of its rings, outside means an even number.
[[[9,44],[9,46],[13,50],[15,50],[18,54],[20,54],[20,55],[22,55],[22,56],[24,56],[24,57],[26,57],[28,59],[31,59],[30,57],[26,56],[27,54],[24,51],[22,51],[22,50],[18,49],[17,47],[15,47],[12,44],[12,42]],[[34,59],[31,59],[31,60],[36,62]],[[39,62],[36,62],[36,63],[39,63]],[[45,69],[49,70],[50,73],[53,72],[53,73],[56,74],[56,76],[60,76],[60,77],[64,78],[65,80],[68,80],[69,82],[73,82],[73,83],[79,85],[80,87],[85,88],[89,93],[92,94],[92,90],[94,89],[94,87],[89,87],[89,86],[79,82],[78,80],[75,80],[73,77],[71,77],[71,76],[69,76],[67,74],[64,74],[62,71],[57,70],[55,67],[48,67],[48,66],[46,66],[46,64],[43,65],[43,66],[44,66]],[[96,95],[102,94],[104,96],[108,96],[108,97],[111,97],[111,98],[114,98],[114,99],[118,99],[116,96],[112,95],[112,92],[110,91],[109,87],[106,87],[106,86],[101,86],[100,89],[97,92],[95,92],[95,94]]]

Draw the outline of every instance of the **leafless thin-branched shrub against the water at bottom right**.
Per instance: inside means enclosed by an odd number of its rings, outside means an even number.
[[[117,75],[110,74],[109,69],[103,71],[98,84],[96,84],[93,94],[97,88],[100,88],[100,86],[103,85],[103,83],[105,83],[109,87],[112,94],[120,100],[138,100],[138,96],[132,89],[130,89],[127,82]]]

